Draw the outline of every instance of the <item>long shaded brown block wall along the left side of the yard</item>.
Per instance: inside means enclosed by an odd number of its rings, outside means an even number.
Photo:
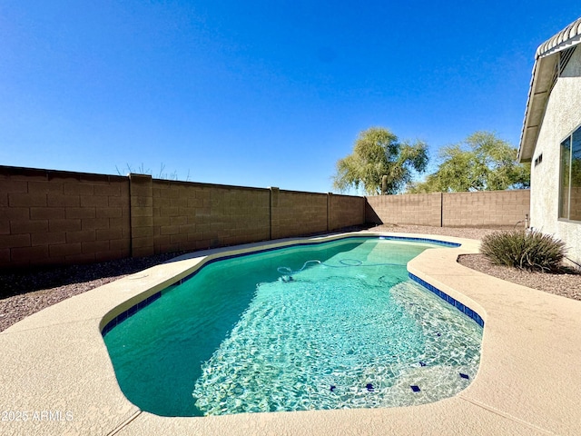
[[[365,223],[365,198],[0,166],[0,268],[200,250]]]

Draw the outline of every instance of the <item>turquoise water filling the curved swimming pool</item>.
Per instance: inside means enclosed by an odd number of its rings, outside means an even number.
[[[437,401],[482,328],[408,279],[429,243],[350,238],[204,266],[104,335],[127,398],[163,416]]]

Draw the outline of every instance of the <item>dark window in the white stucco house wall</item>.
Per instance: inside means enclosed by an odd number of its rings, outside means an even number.
[[[561,143],[559,218],[581,221],[581,127]]]

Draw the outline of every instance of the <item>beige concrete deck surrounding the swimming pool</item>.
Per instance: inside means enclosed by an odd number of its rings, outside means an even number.
[[[426,250],[408,263],[408,270],[485,321],[480,368],[466,390],[405,408],[205,418],[159,417],[128,401],[115,379],[103,326],[176,277],[188,275],[207,256],[300,241],[281,240],[182,256],[59,302],[0,332],[0,434],[579,434],[581,302],[457,263],[459,254],[478,253],[478,241],[410,233],[355,234],[462,243],[458,248]],[[340,236],[345,235],[330,238]]]

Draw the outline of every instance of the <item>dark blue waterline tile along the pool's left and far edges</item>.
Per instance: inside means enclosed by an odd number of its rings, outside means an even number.
[[[225,261],[228,259],[235,259],[238,257],[250,255],[250,254],[267,253],[267,252],[271,252],[271,251],[279,250],[279,249],[284,249],[284,248],[294,248],[294,247],[300,247],[300,246],[317,245],[320,243],[334,243],[337,241],[344,241],[347,239],[379,239],[379,240],[388,240],[388,241],[403,241],[403,242],[410,242],[410,243],[435,243],[435,244],[444,245],[447,247],[459,247],[461,245],[460,243],[449,243],[448,241],[438,241],[437,239],[429,239],[429,238],[414,238],[414,237],[408,237],[408,236],[370,236],[370,235],[347,236],[345,238],[333,239],[331,241],[313,241],[313,242],[309,242],[309,243],[293,243],[291,245],[284,245],[284,246],[276,245],[273,247],[266,247],[266,248],[263,248],[261,250],[256,250],[256,251],[251,251],[251,252],[246,252],[246,253],[227,254],[225,256],[210,259],[208,262],[203,263],[202,266],[200,268],[198,268],[196,271],[191,272],[190,274],[186,275],[182,279],[172,283],[170,286],[182,284],[183,282],[187,282],[194,275],[196,275],[198,272],[200,272],[204,266],[209,265],[209,264],[214,263],[214,262]],[[124,320],[126,320],[127,318],[129,318],[130,316],[135,314],[136,312],[142,310],[143,307],[149,305],[151,302],[157,300],[161,296],[162,296],[161,291],[154,293],[151,297],[147,298],[146,300],[143,300],[143,302],[139,302],[138,304],[135,304],[132,307],[130,307],[125,312],[120,313],[115,318],[113,318],[113,320],[111,320],[110,322],[107,322],[107,324],[103,328],[103,331],[101,332],[102,335],[104,336],[105,334],[110,332],[113,329],[113,327],[115,327],[118,323],[123,322]],[[153,298],[153,297],[155,297],[155,298]],[[152,300],[152,298],[153,298],[153,300]]]

